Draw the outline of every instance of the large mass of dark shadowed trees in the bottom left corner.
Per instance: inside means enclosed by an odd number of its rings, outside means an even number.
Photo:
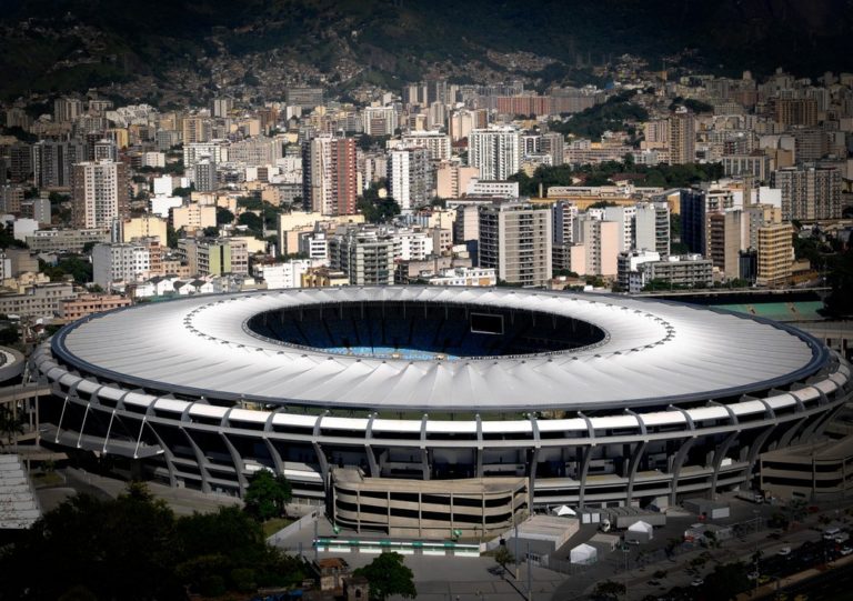
[[[42,561],[51,578],[33,579]],[[304,575],[237,505],[175,519],[139,483],[114,500],[70,499],[0,553],[2,599],[187,599],[289,587]]]

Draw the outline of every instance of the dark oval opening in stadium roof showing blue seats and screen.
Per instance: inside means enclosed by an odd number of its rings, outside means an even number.
[[[606,340],[568,315],[449,302],[335,302],[264,311],[245,329],[312,351],[407,361],[564,353]]]

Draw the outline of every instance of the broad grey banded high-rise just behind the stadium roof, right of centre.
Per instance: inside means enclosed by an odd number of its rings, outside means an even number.
[[[552,276],[552,239],[550,208],[519,201],[480,207],[480,267],[493,268],[499,280],[544,286]]]

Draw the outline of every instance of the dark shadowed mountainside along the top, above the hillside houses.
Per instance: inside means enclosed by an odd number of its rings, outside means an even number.
[[[0,28],[7,97],[164,81],[169,69],[273,50],[321,72],[349,60],[394,81],[449,61],[512,73],[490,52],[518,51],[554,59],[542,76],[555,81],[625,52],[653,66],[690,56],[716,72],[853,70],[853,0],[0,0]]]

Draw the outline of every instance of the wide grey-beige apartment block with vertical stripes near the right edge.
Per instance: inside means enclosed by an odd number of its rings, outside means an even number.
[[[782,190],[782,219],[841,217],[841,173],[835,168],[790,167],[774,171],[771,188]]]

